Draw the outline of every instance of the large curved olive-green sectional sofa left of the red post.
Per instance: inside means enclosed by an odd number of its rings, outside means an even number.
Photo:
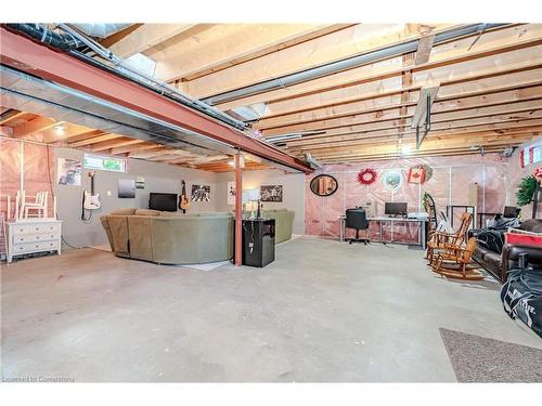
[[[100,220],[117,257],[160,264],[216,262],[233,257],[231,213],[120,209]]]

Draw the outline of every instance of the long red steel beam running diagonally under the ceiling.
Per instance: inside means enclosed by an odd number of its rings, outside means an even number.
[[[30,75],[186,128],[286,167],[310,173],[301,160],[138,83],[0,27],[0,62]]]

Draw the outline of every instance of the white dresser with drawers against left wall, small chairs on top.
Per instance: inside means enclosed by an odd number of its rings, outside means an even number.
[[[61,253],[62,221],[22,219],[8,222],[8,262],[15,256],[56,251]]]

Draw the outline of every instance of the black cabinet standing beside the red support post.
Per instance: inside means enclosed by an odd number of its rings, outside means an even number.
[[[243,265],[274,261],[274,220],[243,220]]]

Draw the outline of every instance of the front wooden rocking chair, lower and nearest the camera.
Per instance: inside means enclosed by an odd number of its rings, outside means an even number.
[[[480,271],[469,266],[473,253],[476,250],[476,238],[470,237],[464,247],[449,246],[444,252],[438,254],[433,271],[439,275],[468,280],[481,280]]]

